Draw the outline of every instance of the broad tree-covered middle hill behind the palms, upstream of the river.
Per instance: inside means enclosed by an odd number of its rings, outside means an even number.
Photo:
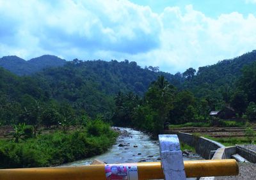
[[[73,107],[82,108],[90,116],[111,112],[113,98],[119,91],[129,91],[140,96],[147,91],[150,82],[163,74],[140,68],[135,62],[79,61],[74,59],[65,66],[45,69],[34,76],[45,82],[51,98],[68,101]],[[165,73],[172,81],[173,75]]]

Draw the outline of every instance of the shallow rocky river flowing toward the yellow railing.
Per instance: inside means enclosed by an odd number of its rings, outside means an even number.
[[[121,134],[116,139],[116,144],[106,153],[67,163],[63,166],[90,165],[95,159],[105,163],[161,161],[158,140],[152,140],[146,133],[131,128],[118,128],[118,130]],[[193,154],[193,156],[183,156],[183,159],[198,160],[202,158]]]

